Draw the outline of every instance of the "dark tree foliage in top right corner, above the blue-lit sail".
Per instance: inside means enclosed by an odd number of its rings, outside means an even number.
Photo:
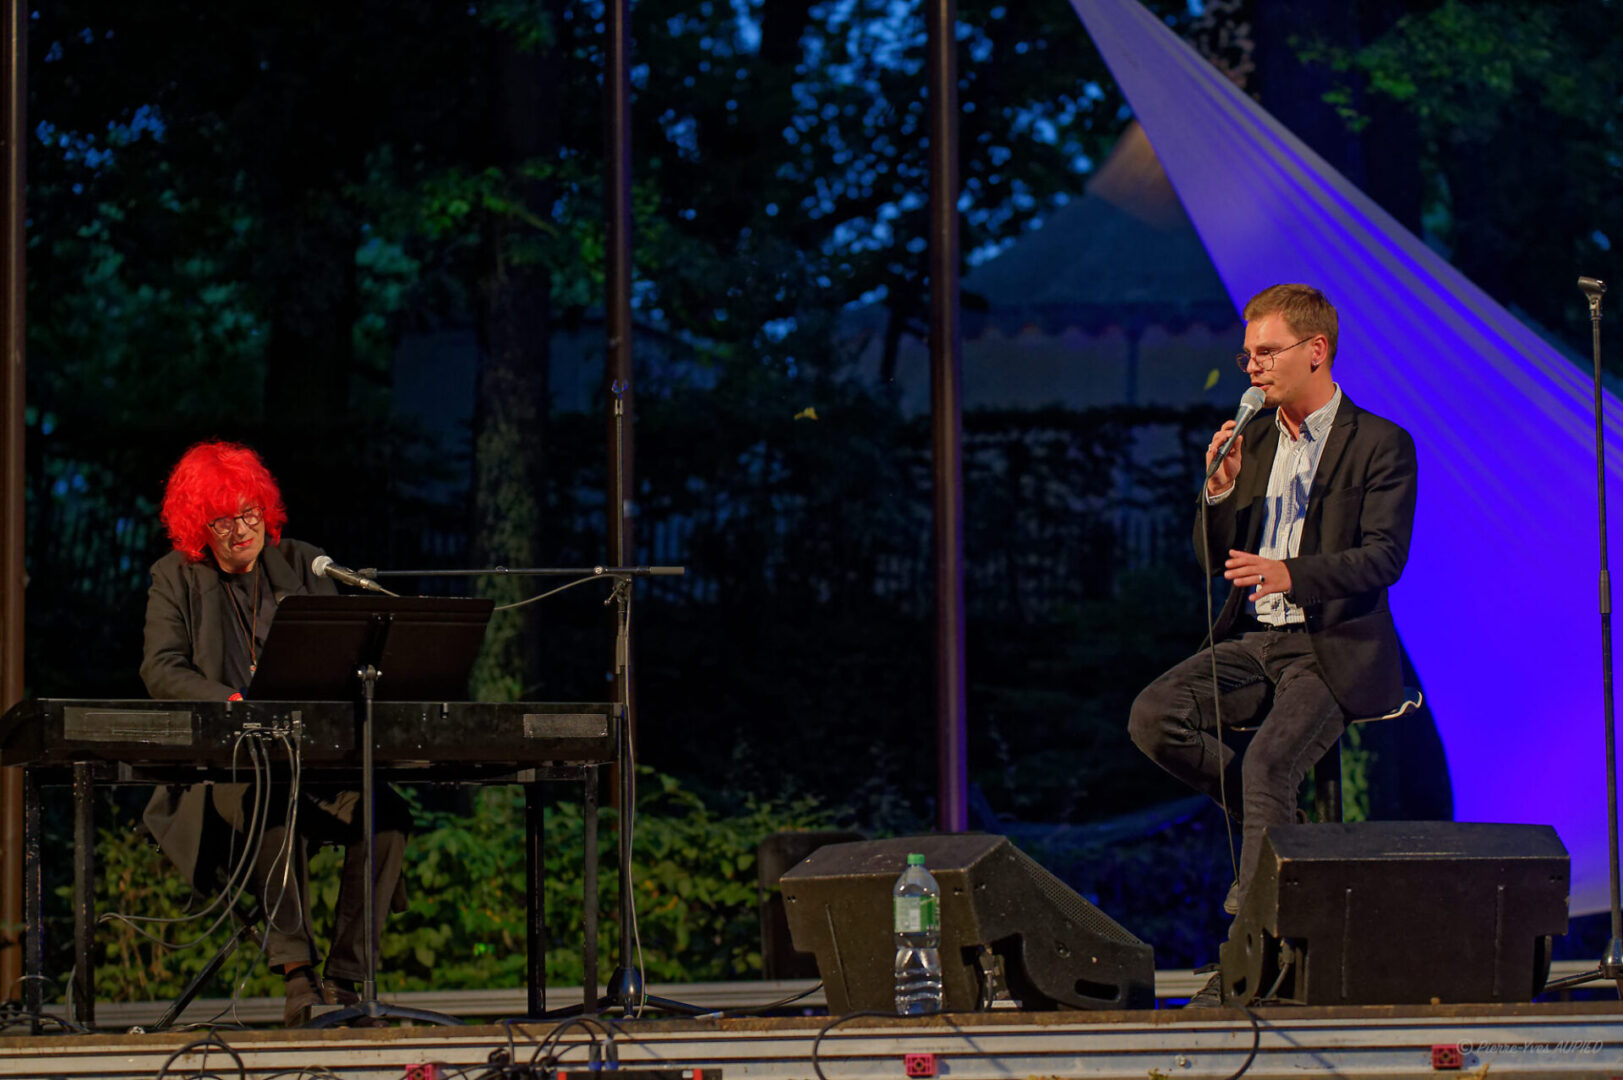
[[[1576,278],[1623,271],[1620,16],[1605,0],[1433,0],[1360,49],[1305,42],[1310,60],[1360,75],[1415,120],[1417,148],[1381,153],[1419,151],[1427,239],[1579,352],[1589,312]]]

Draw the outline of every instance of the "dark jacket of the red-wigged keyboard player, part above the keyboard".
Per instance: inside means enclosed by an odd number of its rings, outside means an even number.
[[[336,596],[338,588],[310,570],[320,547],[295,539],[265,544],[260,568],[271,594],[315,593]],[[219,570],[214,562],[192,562],[172,551],[153,564],[146,593],[146,648],[141,682],[157,700],[224,702],[237,690],[224,684],[226,625],[219,603]]]

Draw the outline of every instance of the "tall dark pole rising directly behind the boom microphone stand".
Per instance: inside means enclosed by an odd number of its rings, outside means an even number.
[[[636,499],[636,473],[633,464],[633,401],[631,396],[631,2],[609,0],[609,41],[604,71],[607,112],[604,130],[609,133],[609,175],[604,192],[609,222],[609,252],[604,296],[605,330],[609,335],[607,372],[604,382],[609,393],[609,562],[628,567],[635,562],[631,542],[631,515]],[[631,581],[617,588],[631,590]],[[628,607],[625,609],[630,611]],[[630,625],[622,625],[615,650],[615,700],[625,705],[622,739],[626,747],[636,745],[636,687],[631,679]],[[636,802],[636,755],[622,754],[615,770],[615,789],[620,809],[620,882],[630,880],[631,822]],[[588,903],[594,898],[588,896]],[[620,892],[620,957],[610,997],[620,1005],[641,1005],[643,981],[636,974],[635,931],[631,921],[631,895]],[[596,978],[596,973],[589,978]]]

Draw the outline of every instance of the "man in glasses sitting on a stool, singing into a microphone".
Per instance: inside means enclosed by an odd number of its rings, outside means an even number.
[[[1263,406],[1206,482],[1208,577],[1233,586],[1211,648],[1156,679],[1133,702],[1128,731],[1157,765],[1219,799],[1243,825],[1238,913],[1263,830],[1295,817],[1303,776],[1347,726],[1402,698],[1402,661],[1386,590],[1402,573],[1415,512],[1409,434],[1365,413],[1336,385],[1336,309],[1305,284],[1277,284],[1245,305],[1235,357]],[[1233,432],[1212,435],[1206,468]],[[1243,760],[1216,737],[1256,726]],[[1238,775],[1237,775],[1238,773]]]

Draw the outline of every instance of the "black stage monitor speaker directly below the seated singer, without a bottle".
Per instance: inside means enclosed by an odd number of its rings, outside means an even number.
[[[1530,1000],[1569,880],[1548,825],[1271,825],[1220,948],[1224,1000]]]

